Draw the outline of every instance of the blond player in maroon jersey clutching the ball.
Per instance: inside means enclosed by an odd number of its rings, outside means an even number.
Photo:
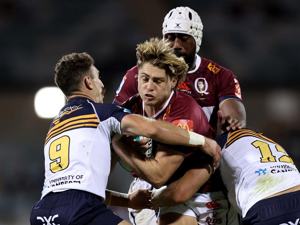
[[[185,77],[187,64],[174,54],[169,44],[170,42],[167,40],[155,38],[138,45],[139,94],[132,96],[121,106],[130,110],[131,113],[171,122],[189,131],[211,137],[211,127],[201,107],[190,96],[176,91],[178,83]],[[155,190],[166,184],[172,175],[174,177],[181,175],[182,170],[176,170],[184,161],[187,153],[190,157],[200,159],[199,151],[197,151],[197,156],[195,156],[196,153],[192,153],[195,149],[161,143],[158,143],[156,152],[153,152],[154,158],[145,158],[144,155],[128,148],[126,144],[125,141],[119,141],[116,136],[112,140],[113,148],[131,167],[134,171],[132,174],[136,177],[131,184],[129,193],[137,189]],[[154,150],[152,149],[152,151]],[[201,156],[203,160],[199,160],[199,167],[203,167],[206,179],[208,179],[213,168],[208,157],[204,154]],[[182,169],[184,170],[184,167]],[[216,185],[205,184],[200,191],[222,193],[222,186],[219,185],[218,179],[211,177],[210,182]],[[156,224],[157,214],[154,211],[149,209],[129,210],[129,217],[133,224]],[[177,222],[196,224],[197,220],[195,217],[181,215]],[[161,220],[160,223],[165,224],[164,220]]]

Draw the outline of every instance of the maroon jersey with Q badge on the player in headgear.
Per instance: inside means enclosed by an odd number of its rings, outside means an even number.
[[[138,93],[137,66],[128,70],[116,91],[114,103],[121,104]],[[212,136],[217,134],[217,111],[219,104],[234,98],[242,101],[241,90],[236,76],[211,60],[196,55],[196,68],[187,72],[184,82],[178,85],[179,91],[190,95],[202,107],[212,128]]]

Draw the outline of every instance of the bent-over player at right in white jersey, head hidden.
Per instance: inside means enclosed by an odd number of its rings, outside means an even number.
[[[248,129],[226,132],[215,140],[222,148],[219,168],[228,199],[242,215],[242,224],[299,224],[300,174],[286,151],[262,133]],[[181,179],[152,192],[152,204],[164,205],[161,210],[184,204],[195,217],[201,214],[203,210],[196,207],[192,196],[207,179],[202,176],[207,173],[198,165],[192,159],[190,170]],[[199,224],[222,222],[215,211],[222,207],[219,203],[207,202],[206,210],[213,215]]]

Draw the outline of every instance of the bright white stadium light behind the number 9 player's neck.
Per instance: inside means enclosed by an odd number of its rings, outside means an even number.
[[[66,97],[58,87],[44,87],[35,94],[35,113],[40,118],[54,119],[66,104]]]

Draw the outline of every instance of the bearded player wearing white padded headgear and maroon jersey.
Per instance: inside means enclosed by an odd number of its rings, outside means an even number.
[[[177,26],[179,24],[179,26]],[[236,76],[219,64],[197,55],[202,39],[202,22],[189,7],[172,9],[163,23],[164,38],[172,41],[175,54],[183,57],[189,68],[186,79],[179,83],[179,91],[190,95],[205,112],[213,137],[217,134],[217,111],[224,117],[222,130],[240,129],[246,126],[246,112]],[[114,104],[122,104],[138,93],[137,66],[125,74],[116,91]]]

